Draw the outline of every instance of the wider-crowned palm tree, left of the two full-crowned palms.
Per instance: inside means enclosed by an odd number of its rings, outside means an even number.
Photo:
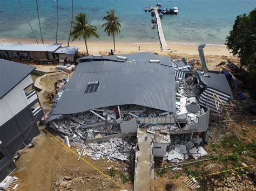
[[[97,31],[97,27],[87,24],[86,14],[80,12],[80,13],[77,13],[75,17],[75,26],[72,26],[72,31],[70,35],[72,36],[72,41],[76,39],[80,40],[81,37],[84,38],[86,52],[87,52],[87,55],[89,55],[86,39],[90,37],[99,38],[96,31]]]

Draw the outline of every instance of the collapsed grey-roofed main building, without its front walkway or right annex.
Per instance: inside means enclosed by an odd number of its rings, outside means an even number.
[[[198,102],[201,84],[194,84],[190,75],[185,79],[185,72],[192,73],[185,58],[177,63],[148,52],[81,58],[55,98],[48,125],[69,142],[85,144],[91,153],[97,153],[93,144],[117,143],[136,135],[138,128],[154,135],[155,157],[166,157],[172,135],[192,140],[199,134],[207,142],[210,110]],[[106,156],[104,152],[94,159]]]

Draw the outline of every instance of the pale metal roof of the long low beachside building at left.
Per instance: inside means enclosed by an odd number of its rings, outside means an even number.
[[[35,52],[54,52],[61,44],[42,45],[42,44],[18,44],[0,43],[1,51],[35,51]]]

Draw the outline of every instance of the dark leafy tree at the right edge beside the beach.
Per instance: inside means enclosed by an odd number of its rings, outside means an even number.
[[[256,9],[248,15],[239,15],[234,22],[226,45],[233,55],[238,55],[240,68],[256,69]]]

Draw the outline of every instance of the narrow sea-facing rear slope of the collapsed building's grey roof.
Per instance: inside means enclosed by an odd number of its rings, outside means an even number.
[[[170,56],[160,56],[151,52],[140,52],[140,53],[119,55],[119,56],[126,57],[127,60],[117,59],[117,56],[118,55],[103,56],[103,57],[84,56],[79,59],[79,62],[105,60],[105,61],[117,61],[117,62],[136,61],[136,62],[149,63],[149,60],[160,60],[160,64],[172,66],[172,60]]]

